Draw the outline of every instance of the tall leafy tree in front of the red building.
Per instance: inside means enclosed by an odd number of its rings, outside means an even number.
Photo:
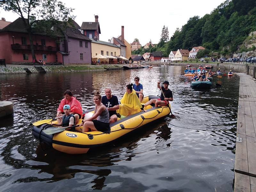
[[[21,17],[28,31],[32,60],[36,60],[32,39],[35,28],[47,28],[44,32],[51,33],[52,27],[57,24],[66,26],[69,18],[75,18],[70,15],[73,9],[65,7],[65,4],[58,0],[0,0],[0,7]]]

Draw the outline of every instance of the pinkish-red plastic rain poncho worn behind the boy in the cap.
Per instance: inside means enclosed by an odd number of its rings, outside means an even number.
[[[63,106],[70,105],[70,112],[77,113],[82,116],[83,110],[81,103],[75,98],[71,97],[70,100],[66,100],[65,98],[60,101],[60,105],[57,111],[61,111],[63,113]]]

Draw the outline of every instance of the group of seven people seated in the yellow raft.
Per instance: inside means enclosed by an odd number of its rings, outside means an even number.
[[[106,95],[103,97],[99,92],[94,94],[94,113],[86,118],[83,117],[81,103],[73,96],[70,90],[65,91],[63,93],[64,99],[61,100],[57,109],[58,123],[52,125],[67,127],[68,129],[68,127],[78,124],[79,119],[84,118],[79,127],[76,127],[77,131],[88,132],[92,130],[110,133],[110,123],[117,121],[119,115],[129,116],[140,111],[146,111],[144,107],[152,103],[155,104],[155,107],[167,106],[169,101],[173,100],[172,91],[168,88],[169,82],[164,81],[164,86],[160,86],[160,82],[157,83],[157,87],[162,90],[160,99],[151,99],[142,104],[141,101],[144,97],[143,86],[139,83],[139,80],[140,78],[136,76],[134,84],[126,85],[126,92],[120,100],[120,104],[117,97],[112,95],[110,88],[105,89]]]

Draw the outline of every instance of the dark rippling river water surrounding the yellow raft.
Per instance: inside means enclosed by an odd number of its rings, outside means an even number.
[[[0,100],[13,102],[14,116],[0,120],[0,191],[233,191],[239,77],[215,76],[212,89],[201,91],[184,84],[183,73],[182,66],[160,66],[1,75]],[[135,76],[144,95],[160,94],[157,82],[170,82],[175,119],[83,155],[33,138],[32,123],[54,117],[65,90],[85,110],[105,87],[120,100]]]

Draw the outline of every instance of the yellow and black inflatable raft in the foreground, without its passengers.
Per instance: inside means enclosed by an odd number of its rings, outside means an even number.
[[[146,103],[150,99],[157,98],[159,97],[147,96],[143,98],[142,102]],[[141,111],[111,123],[110,134],[99,131],[82,133],[65,130],[63,132],[47,135],[41,130],[45,125],[51,124],[51,122],[33,126],[32,134],[40,142],[44,142],[58,151],[68,154],[83,154],[92,151],[97,147],[109,145],[136,129],[148,126],[151,122],[168,116],[171,109],[170,105],[156,108],[151,108],[151,106],[147,107],[149,107],[147,112]],[[94,109],[91,109],[86,112],[93,113],[93,110]],[[78,124],[80,124],[81,121],[82,120],[79,119]]]

